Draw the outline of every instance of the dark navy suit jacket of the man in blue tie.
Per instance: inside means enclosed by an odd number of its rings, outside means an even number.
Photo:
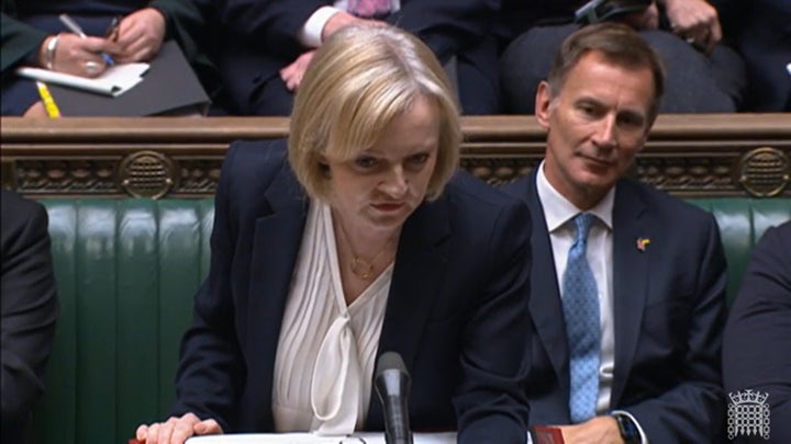
[[[537,169],[506,186],[533,217],[527,397],[531,424],[568,424],[569,351]],[[649,239],[645,251],[637,239]],[[612,409],[632,413],[651,443],[711,443],[724,431],[720,353],[725,255],[714,217],[630,180],[613,207],[615,369]]]

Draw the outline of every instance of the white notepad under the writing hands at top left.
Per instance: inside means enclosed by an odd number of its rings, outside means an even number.
[[[101,76],[93,79],[29,67],[16,69],[16,73],[47,83],[63,84],[116,98],[143,81],[143,76],[148,71],[148,64],[142,62],[115,65],[109,67]]]

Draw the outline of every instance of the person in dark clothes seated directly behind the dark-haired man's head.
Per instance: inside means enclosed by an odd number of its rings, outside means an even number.
[[[579,25],[575,10],[586,1],[503,0],[500,58],[505,111],[535,113],[538,82],[546,79],[561,42]],[[608,0],[605,3],[628,3]],[[747,84],[744,61],[723,41],[718,11],[706,0],[656,0],[644,12],[619,15],[662,58],[666,67],[661,113],[738,111]]]

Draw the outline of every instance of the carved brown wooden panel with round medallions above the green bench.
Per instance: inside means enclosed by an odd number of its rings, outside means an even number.
[[[461,167],[492,184],[544,155],[533,116],[463,121]],[[286,137],[285,117],[1,121],[2,185],[33,196],[211,195],[229,143]],[[791,114],[668,114],[634,168],[680,196],[791,196]]]

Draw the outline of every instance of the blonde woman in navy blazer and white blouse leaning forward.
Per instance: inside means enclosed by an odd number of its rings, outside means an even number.
[[[136,439],[382,431],[377,356],[411,374],[410,423],[524,443],[527,206],[456,172],[452,84],[391,26],[316,50],[289,139],[231,146],[177,401]]]

